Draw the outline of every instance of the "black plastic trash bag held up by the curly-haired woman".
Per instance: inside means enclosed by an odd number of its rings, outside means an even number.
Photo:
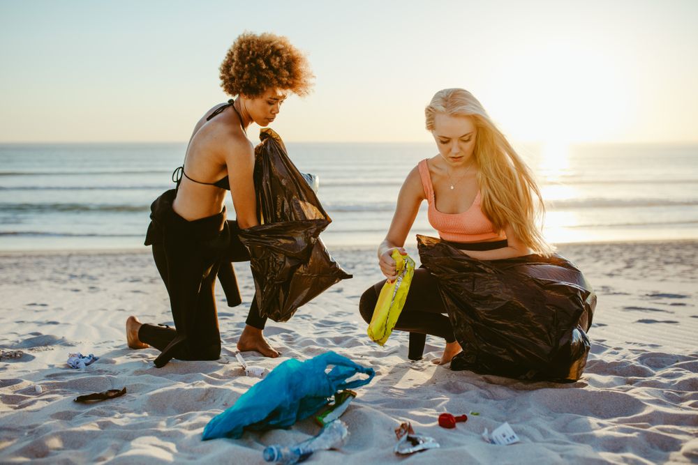
[[[254,173],[260,225],[239,230],[239,238],[251,257],[260,315],[287,321],[298,307],[352,275],[320,240],[332,219],[288,158],[281,137],[265,128],[260,140]]]

